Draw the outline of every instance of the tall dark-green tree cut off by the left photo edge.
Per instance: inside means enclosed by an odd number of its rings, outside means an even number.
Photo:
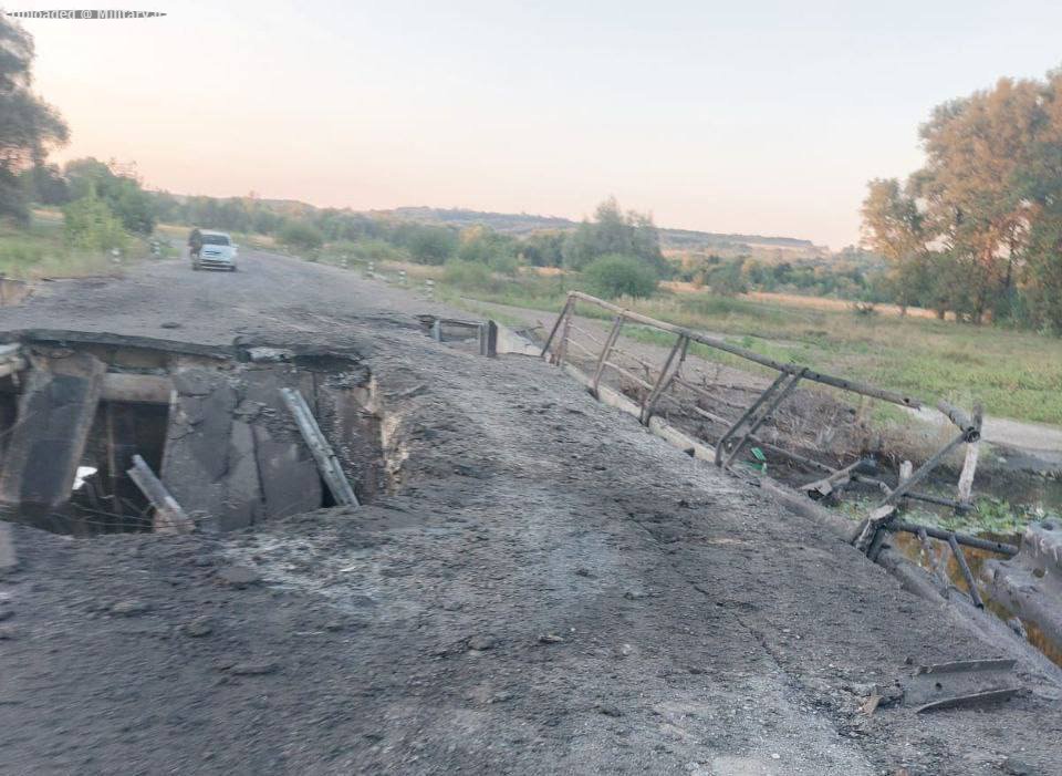
[[[0,218],[27,221],[23,169],[66,142],[66,124],[31,91],[33,39],[0,13]]]

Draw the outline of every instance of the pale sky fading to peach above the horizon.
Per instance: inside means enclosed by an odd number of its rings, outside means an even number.
[[[0,0],[4,10],[65,0]],[[180,194],[858,239],[931,108],[1062,65],[1062,3],[93,0],[23,22],[56,158]]]

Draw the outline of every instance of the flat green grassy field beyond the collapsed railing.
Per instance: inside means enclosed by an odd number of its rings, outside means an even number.
[[[492,288],[444,289],[483,301],[560,310],[572,278],[499,279]],[[1062,340],[926,318],[858,314],[782,300],[673,293],[625,307],[779,361],[814,366],[924,399],[980,401],[1000,417],[1062,425]],[[580,314],[600,314],[586,307]]]

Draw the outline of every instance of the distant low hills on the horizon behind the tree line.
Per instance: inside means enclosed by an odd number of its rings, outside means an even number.
[[[568,230],[579,226],[579,221],[556,216],[532,216],[527,213],[485,213],[461,208],[398,207],[394,210],[372,210],[368,215],[395,218],[397,220],[438,224],[440,226],[487,226],[508,235],[527,235],[543,230]],[[825,249],[811,240],[795,237],[768,237],[763,235],[725,235],[693,229],[660,228],[660,247],[664,250],[753,250],[775,249],[796,251],[805,256],[825,254]]]

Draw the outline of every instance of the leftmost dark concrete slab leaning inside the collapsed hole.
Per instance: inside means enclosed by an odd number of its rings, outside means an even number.
[[[33,522],[63,520],[105,371],[87,353],[41,358],[29,371],[0,472],[0,503]]]

